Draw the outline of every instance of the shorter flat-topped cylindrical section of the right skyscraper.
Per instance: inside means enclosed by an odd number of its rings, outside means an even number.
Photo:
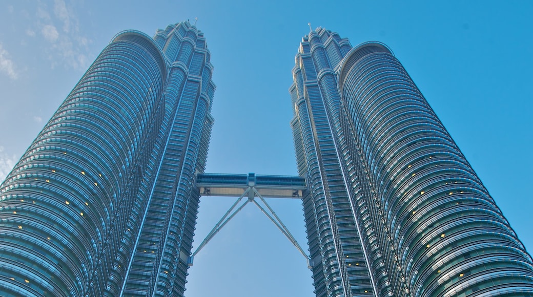
[[[339,77],[392,295],[533,294],[530,255],[390,50],[354,48]]]

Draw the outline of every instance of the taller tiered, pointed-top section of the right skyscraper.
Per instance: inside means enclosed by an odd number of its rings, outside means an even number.
[[[334,137],[342,133],[338,111],[341,102],[332,69],[336,64],[330,62],[325,43],[336,47],[329,52],[334,61],[340,61],[335,54],[340,55],[341,50],[331,32],[311,32],[304,37],[296,56],[291,87],[293,102],[297,102],[292,127],[298,172],[308,178],[310,187],[303,204],[315,293],[371,296],[374,290],[360,241],[360,226],[343,178],[340,142],[344,138]]]

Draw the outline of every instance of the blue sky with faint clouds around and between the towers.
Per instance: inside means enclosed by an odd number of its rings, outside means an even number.
[[[287,89],[311,22],[392,48],[531,252],[531,15],[530,1],[1,1],[0,179],[117,32],[195,18],[217,85],[207,171],[295,175]],[[269,202],[305,245],[301,203]],[[201,199],[195,243],[232,203]],[[189,273],[188,297],[313,290],[303,257],[254,205]]]

